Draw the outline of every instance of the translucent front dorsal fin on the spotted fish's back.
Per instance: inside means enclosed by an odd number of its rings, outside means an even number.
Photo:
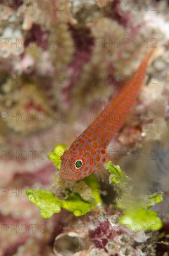
[[[100,98],[97,100],[96,104],[92,108],[91,112],[91,118],[90,118],[90,126],[91,124],[96,121],[96,118],[100,115],[100,113],[106,108],[107,102],[103,99],[101,99],[103,96],[103,93],[101,94]]]

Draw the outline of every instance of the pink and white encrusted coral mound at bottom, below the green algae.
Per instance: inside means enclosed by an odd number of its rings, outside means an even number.
[[[69,223],[64,220],[65,233],[55,239],[55,255],[156,255],[155,234],[130,231],[119,224],[119,216],[119,211],[100,208]]]

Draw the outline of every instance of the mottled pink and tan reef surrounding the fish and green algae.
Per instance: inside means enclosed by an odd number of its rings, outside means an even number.
[[[0,14],[0,255],[167,256],[168,1],[1,0]],[[78,186],[58,177],[47,154],[81,134],[98,99],[109,102],[153,47],[131,112],[136,120],[129,115],[111,145],[128,152],[117,160],[134,187],[144,195],[163,192],[154,206],[163,229],[102,232],[121,215],[110,203],[116,193],[104,169],[96,172],[101,208],[81,217],[62,209],[41,218],[27,188],[54,188],[63,198],[62,188]],[[84,200],[91,195],[86,186],[76,187]]]

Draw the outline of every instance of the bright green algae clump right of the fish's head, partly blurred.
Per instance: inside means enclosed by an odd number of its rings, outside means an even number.
[[[117,199],[117,207],[123,209],[124,212],[123,216],[119,218],[120,224],[126,225],[130,229],[133,229],[133,227],[140,230],[161,229],[163,222],[157,213],[154,210],[150,210],[150,208],[157,203],[163,202],[163,193],[158,191],[149,196],[133,198],[130,193],[125,193],[126,189],[132,191],[133,188],[128,185],[129,178],[122,172],[120,167],[113,165],[110,161],[106,162],[104,166],[110,173],[110,181],[122,191],[121,198]]]

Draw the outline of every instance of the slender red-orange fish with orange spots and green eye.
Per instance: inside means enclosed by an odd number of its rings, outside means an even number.
[[[134,76],[110,100],[97,119],[65,150],[60,158],[60,175],[65,180],[83,179],[108,161],[105,150],[113,135],[123,125],[124,114],[130,111],[136,100],[152,52],[143,59]],[[115,118],[115,115],[120,117],[119,121],[116,121],[118,117]]]

